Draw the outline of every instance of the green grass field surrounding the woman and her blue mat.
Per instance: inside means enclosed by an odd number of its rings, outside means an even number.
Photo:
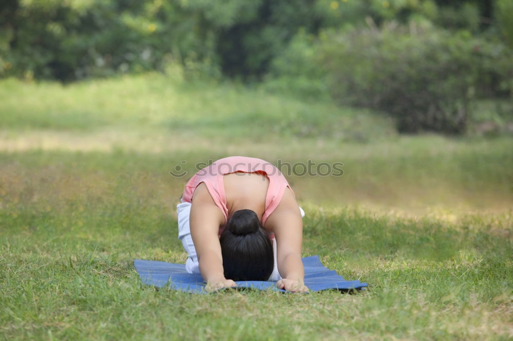
[[[185,262],[182,165],[343,162],[290,176],[304,255],[365,293],[141,286]],[[181,163],[187,161],[187,163]],[[368,111],[159,75],[0,81],[0,338],[511,339],[513,139],[401,136]]]

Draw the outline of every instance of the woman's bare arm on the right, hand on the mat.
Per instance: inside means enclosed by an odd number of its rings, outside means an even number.
[[[285,191],[282,201],[267,220],[266,227],[268,224],[276,238],[278,271],[283,278],[277,285],[290,291],[308,291],[303,283],[305,270],[301,261],[303,220],[292,191]]]

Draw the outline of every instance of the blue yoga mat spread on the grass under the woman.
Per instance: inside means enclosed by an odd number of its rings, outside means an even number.
[[[160,261],[143,261],[136,259],[133,262],[135,271],[139,273],[144,284],[156,287],[169,286],[175,290],[192,293],[206,293],[205,282],[200,274],[187,273],[184,264],[172,264]],[[336,289],[341,291],[362,290],[367,283],[360,281],[346,281],[335,270],[324,267],[318,255],[303,258],[305,266],[305,285],[310,291]],[[276,287],[276,282],[267,281],[239,281],[235,282],[238,288],[253,288],[260,290],[274,290],[286,292]]]

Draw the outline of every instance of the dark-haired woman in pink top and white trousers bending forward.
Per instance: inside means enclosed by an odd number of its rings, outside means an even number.
[[[201,273],[208,291],[245,280],[308,291],[304,212],[272,163],[243,156],[215,161],[187,182],[177,214],[187,271]]]

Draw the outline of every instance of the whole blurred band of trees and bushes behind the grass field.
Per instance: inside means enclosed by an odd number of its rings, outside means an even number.
[[[468,130],[471,100],[510,100],[507,0],[6,0],[0,76],[127,72],[260,82],[395,117],[404,132]]]

